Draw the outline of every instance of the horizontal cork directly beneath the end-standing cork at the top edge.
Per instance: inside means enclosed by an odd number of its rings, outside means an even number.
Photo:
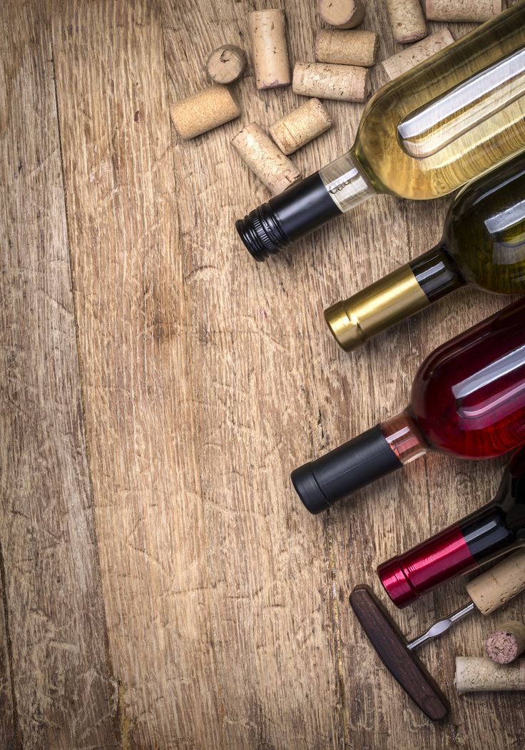
[[[315,58],[318,62],[370,68],[376,64],[379,46],[380,37],[374,31],[322,28],[315,40]]]

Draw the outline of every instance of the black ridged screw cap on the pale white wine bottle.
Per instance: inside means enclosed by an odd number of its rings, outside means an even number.
[[[255,260],[266,260],[336,216],[341,209],[314,172],[237,220],[236,229]]]

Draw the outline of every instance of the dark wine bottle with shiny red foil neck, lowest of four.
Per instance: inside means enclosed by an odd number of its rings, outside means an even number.
[[[377,568],[389,597],[405,607],[484,562],[525,546],[525,448],[508,463],[492,502]]]

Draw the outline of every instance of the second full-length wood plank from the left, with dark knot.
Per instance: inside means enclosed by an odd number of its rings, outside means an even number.
[[[130,746],[223,747],[157,3],[53,31],[98,546]]]

